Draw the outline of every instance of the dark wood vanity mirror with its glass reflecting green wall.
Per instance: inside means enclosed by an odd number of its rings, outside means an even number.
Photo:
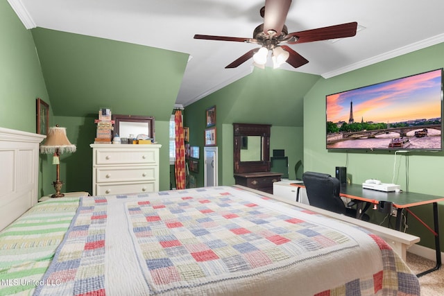
[[[271,125],[233,123],[234,173],[270,171]]]

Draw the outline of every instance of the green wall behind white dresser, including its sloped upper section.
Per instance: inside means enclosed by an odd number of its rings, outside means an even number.
[[[113,114],[155,117],[160,149],[160,190],[169,189],[169,117],[176,103],[188,55],[44,28],[34,28],[54,118],[67,128],[77,151],[62,155],[62,191],[92,193],[92,148],[99,108]],[[56,168],[42,156],[41,195],[53,192]],[[49,182],[48,182],[49,181]]]

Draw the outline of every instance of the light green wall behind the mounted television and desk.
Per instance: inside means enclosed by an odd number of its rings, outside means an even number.
[[[359,184],[370,178],[391,183],[393,165],[396,162],[398,165],[395,170],[395,183],[400,184],[403,190],[443,196],[443,152],[411,152],[398,154],[396,157],[393,152],[332,152],[325,149],[325,132],[319,132],[325,130],[325,96],[327,94],[444,67],[443,52],[444,44],[438,44],[341,76],[319,80],[304,98],[305,171],[319,171],[334,175],[335,166],[347,166],[348,177],[353,183]],[[411,210],[429,225],[433,225],[431,205],[413,207]],[[440,216],[443,215],[443,211],[443,204],[440,204]],[[377,211],[370,211],[370,215],[373,222],[379,223],[382,220]],[[411,216],[409,216],[408,225],[407,232],[421,236],[421,245],[434,247],[432,235]],[[444,241],[443,232],[441,222],[441,237],[443,238],[441,243]]]

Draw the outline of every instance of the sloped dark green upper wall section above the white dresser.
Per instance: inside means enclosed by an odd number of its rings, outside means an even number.
[[[44,28],[32,30],[54,114],[114,114],[168,121],[188,55]]]

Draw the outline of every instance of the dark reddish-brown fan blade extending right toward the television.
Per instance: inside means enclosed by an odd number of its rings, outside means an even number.
[[[314,42],[321,40],[329,40],[336,38],[352,37],[356,35],[358,23],[353,21],[347,24],[340,24],[335,26],[328,26],[324,28],[316,28],[307,31],[300,31],[289,33],[290,36],[298,37],[295,42],[288,42],[289,44],[298,44],[306,42]]]

